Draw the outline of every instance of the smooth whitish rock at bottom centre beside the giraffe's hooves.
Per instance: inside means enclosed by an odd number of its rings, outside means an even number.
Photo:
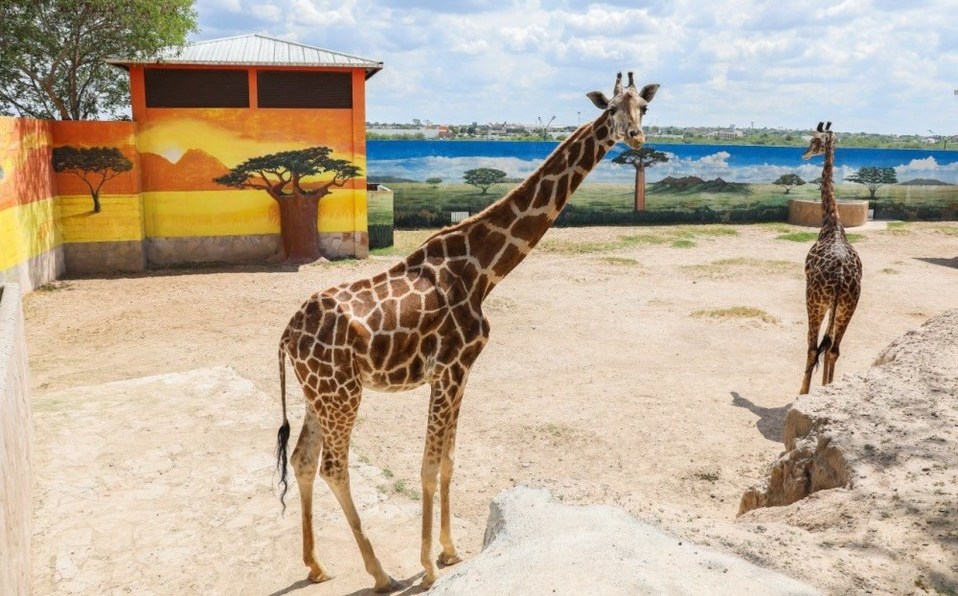
[[[609,506],[564,505],[516,487],[490,507],[482,552],[436,594],[816,594],[814,588],[680,540]]]

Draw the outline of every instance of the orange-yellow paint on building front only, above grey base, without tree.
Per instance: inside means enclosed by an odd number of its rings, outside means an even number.
[[[213,179],[253,157],[314,146],[329,147],[333,158],[346,160],[361,171],[359,177],[333,187],[320,201],[320,232],[365,231],[364,70],[352,71],[353,109],[256,107],[257,69],[243,70],[249,72],[250,108],[148,108],[143,67],[131,65],[147,234],[231,235],[242,222],[259,223],[250,233],[278,233],[279,209],[265,191],[237,190]],[[317,181],[328,178],[327,174]],[[191,209],[196,215],[192,226]],[[211,217],[220,209],[226,211],[226,217]]]

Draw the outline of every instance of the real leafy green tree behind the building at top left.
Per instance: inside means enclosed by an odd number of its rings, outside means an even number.
[[[183,45],[197,30],[193,1],[0,1],[0,113],[117,116],[129,105],[129,77],[104,60]]]

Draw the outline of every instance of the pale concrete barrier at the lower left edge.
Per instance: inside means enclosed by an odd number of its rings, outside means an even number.
[[[33,415],[20,287],[0,284],[0,594],[29,594]]]

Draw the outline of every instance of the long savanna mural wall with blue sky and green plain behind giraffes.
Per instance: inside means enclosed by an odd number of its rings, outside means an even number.
[[[558,145],[545,141],[368,141],[368,179],[394,192],[397,228],[441,227],[476,213],[527,177]],[[791,199],[820,197],[820,157],[802,160],[805,147],[681,145],[649,142],[667,160],[644,171],[613,160],[614,147],[589,174],[557,226],[643,223],[786,221]],[[488,189],[467,184],[468,170],[505,174]],[[872,189],[847,180],[861,168],[893,168],[897,184]],[[801,184],[783,186],[782,177]],[[835,165],[839,200],[868,200],[875,219],[958,219],[958,152],[936,149],[839,148]],[[486,192],[486,190],[488,192]]]

